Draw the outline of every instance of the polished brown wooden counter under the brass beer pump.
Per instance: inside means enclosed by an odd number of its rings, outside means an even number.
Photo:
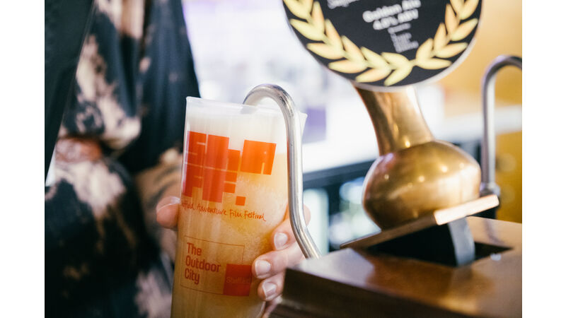
[[[466,266],[341,249],[287,269],[265,317],[520,317],[521,224],[468,217]]]

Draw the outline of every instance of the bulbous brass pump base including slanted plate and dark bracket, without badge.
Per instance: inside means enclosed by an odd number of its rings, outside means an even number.
[[[473,205],[480,196],[480,165],[460,148],[434,139],[414,88],[354,88],[369,113],[379,149],[364,180],[362,205],[381,232],[341,247],[470,264],[475,244],[463,216],[478,212]],[[448,210],[439,213],[443,209]]]

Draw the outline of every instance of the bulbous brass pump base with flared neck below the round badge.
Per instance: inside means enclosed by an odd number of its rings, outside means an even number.
[[[382,229],[477,199],[480,165],[434,140],[415,90],[383,93],[356,88],[376,131],[380,157],[364,183],[364,210]]]

